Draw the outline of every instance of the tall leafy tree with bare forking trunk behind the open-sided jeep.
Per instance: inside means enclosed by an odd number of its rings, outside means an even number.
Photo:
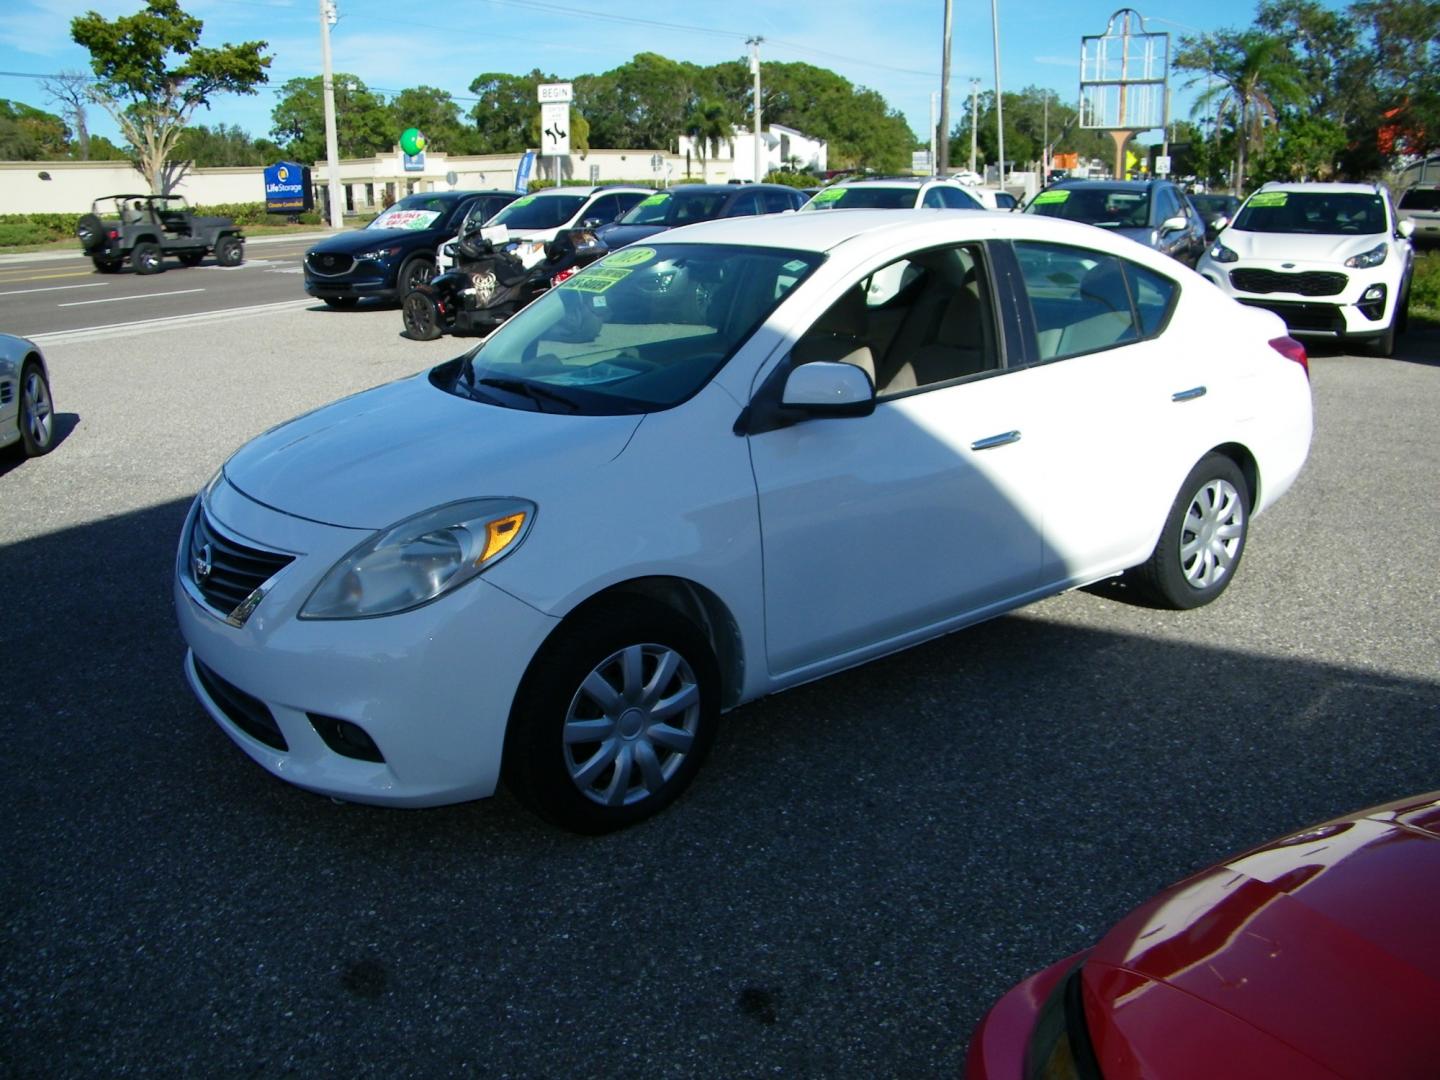
[[[171,151],[194,112],[220,94],[255,94],[266,82],[265,42],[200,45],[203,23],[177,0],[148,0],[131,16],[108,20],[88,12],[71,22],[71,37],[91,53],[95,102],[135,150],[150,190],[168,194],[186,163]]]

